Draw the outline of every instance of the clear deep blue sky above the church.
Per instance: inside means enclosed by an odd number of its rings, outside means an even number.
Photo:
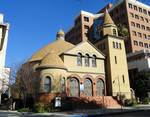
[[[0,13],[10,24],[6,67],[21,64],[55,41],[56,32],[73,26],[80,10],[96,13],[115,0],[0,0]]]

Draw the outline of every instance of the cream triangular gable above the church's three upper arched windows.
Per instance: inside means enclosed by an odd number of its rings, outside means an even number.
[[[89,54],[90,56],[96,55],[97,58],[105,58],[104,54],[88,41],[82,42],[69,51],[64,52],[64,54],[70,55],[77,55],[78,53],[81,53],[83,56]]]

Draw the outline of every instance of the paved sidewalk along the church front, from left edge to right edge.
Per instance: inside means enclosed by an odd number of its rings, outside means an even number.
[[[127,112],[140,112],[144,110],[150,110],[150,105],[138,105],[137,107],[123,107],[120,109],[75,110],[58,113],[19,113],[17,111],[0,110],[0,117],[94,117],[95,115],[111,115]]]

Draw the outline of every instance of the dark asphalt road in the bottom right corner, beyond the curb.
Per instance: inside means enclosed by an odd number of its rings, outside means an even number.
[[[130,112],[130,113],[122,113],[122,114],[114,114],[114,115],[103,115],[100,117],[150,117],[150,110]]]

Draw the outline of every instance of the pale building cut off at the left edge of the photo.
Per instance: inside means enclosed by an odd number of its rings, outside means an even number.
[[[5,67],[8,30],[9,30],[9,24],[3,22],[3,14],[0,14],[0,92],[1,93],[5,93],[8,90],[8,84],[9,84],[10,69]]]

